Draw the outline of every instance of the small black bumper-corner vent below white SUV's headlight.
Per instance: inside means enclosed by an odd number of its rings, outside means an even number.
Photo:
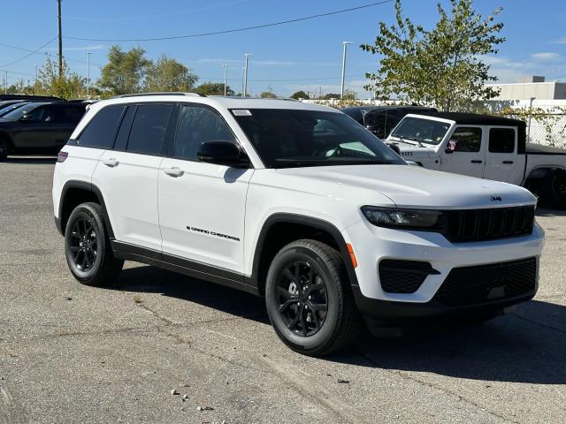
[[[379,282],[387,293],[414,293],[424,278],[439,274],[429,262],[384,259],[379,262]]]

